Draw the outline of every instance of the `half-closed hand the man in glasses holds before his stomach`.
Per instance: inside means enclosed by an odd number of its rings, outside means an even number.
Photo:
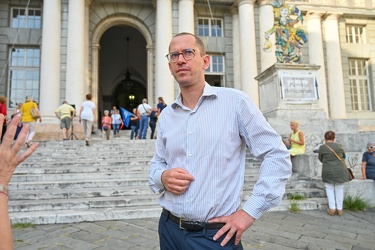
[[[161,175],[164,187],[172,194],[183,194],[193,180],[194,176],[182,168],[171,168]]]

